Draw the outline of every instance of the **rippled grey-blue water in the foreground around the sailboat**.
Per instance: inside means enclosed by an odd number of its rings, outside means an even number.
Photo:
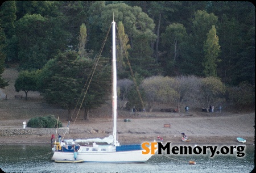
[[[246,156],[153,155],[146,163],[55,163],[51,146],[0,145],[0,167],[5,172],[251,172],[254,145]],[[169,157],[169,158],[167,158]],[[196,164],[188,164],[188,161]]]

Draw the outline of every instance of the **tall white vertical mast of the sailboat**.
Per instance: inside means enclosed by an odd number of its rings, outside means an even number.
[[[113,83],[112,83],[112,92],[113,92],[113,105],[112,105],[112,113],[113,113],[113,144],[118,146],[117,141],[117,65],[115,58],[115,22],[112,22],[112,53],[113,53]]]

